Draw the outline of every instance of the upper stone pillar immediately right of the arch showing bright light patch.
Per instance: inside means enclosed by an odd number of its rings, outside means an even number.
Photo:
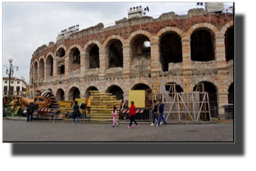
[[[160,42],[151,40],[151,77],[159,77]]]

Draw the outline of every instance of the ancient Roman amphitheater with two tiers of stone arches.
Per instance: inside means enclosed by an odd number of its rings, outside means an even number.
[[[100,90],[128,100],[129,90],[152,89],[162,80],[179,91],[204,83],[211,105],[222,106],[233,103],[233,63],[233,13],[190,9],[187,15],[123,18],[115,26],[59,34],[38,47],[30,61],[30,97],[47,89],[57,100],[73,101]]]

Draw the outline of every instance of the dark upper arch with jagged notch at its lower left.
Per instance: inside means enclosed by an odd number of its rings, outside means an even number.
[[[175,33],[166,34],[161,38],[160,44],[162,71],[168,71],[169,63],[181,63],[183,61],[180,36]]]

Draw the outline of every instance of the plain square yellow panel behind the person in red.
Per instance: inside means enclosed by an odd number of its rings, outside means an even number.
[[[134,102],[136,108],[145,108],[146,94],[145,90],[129,90],[129,103],[128,107],[131,107],[131,101]]]

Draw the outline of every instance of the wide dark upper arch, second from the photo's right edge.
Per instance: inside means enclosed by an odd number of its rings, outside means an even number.
[[[191,35],[191,61],[214,61],[214,49],[210,32],[197,30]]]

